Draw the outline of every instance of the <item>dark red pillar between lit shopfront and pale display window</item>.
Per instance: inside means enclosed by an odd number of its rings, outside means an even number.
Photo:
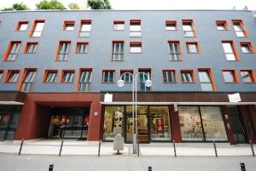
[[[174,105],[170,105],[170,117],[171,117],[171,130],[172,130],[172,140],[177,143],[182,142],[182,136],[179,125],[178,112],[174,111]]]

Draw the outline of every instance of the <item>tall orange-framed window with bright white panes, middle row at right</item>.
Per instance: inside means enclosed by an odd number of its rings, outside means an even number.
[[[236,47],[233,41],[223,41],[222,47],[224,48],[226,60],[238,60],[238,54],[236,52]]]

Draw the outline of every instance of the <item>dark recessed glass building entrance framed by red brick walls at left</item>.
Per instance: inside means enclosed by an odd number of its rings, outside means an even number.
[[[55,108],[49,124],[48,137],[86,140],[89,109]]]

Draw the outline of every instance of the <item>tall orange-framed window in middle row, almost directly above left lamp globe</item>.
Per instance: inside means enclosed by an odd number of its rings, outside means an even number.
[[[124,60],[124,42],[113,41],[112,60]]]

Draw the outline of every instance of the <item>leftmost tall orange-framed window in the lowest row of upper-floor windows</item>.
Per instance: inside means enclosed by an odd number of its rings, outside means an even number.
[[[35,69],[25,69],[25,75],[21,80],[20,91],[29,92],[32,90],[32,84],[35,81],[37,70]]]

